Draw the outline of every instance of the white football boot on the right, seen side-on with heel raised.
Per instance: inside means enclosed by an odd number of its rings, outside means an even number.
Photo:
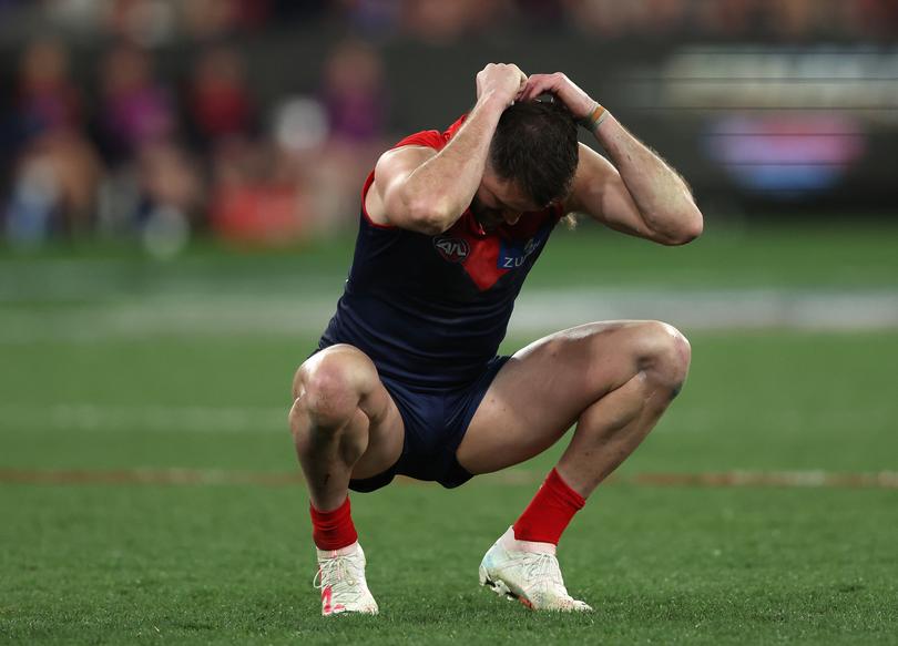
[[[517,598],[533,611],[592,611],[568,594],[555,546],[518,541],[512,527],[493,543],[480,562],[480,585],[507,598]]]

